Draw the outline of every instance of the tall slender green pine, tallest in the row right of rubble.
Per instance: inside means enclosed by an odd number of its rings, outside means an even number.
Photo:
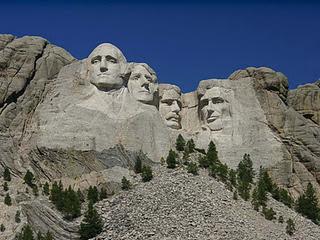
[[[249,200],[254,171],[249,154],[244,154],[237,168],[238,192],[244,200]]]

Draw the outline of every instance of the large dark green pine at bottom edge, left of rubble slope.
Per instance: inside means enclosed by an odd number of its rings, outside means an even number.
[[[102,231],[102,227],[102,220],[93,207],[93,203],[90,201],[88,204],[88,210],[80,224],[80,239],[87,240],[97,236]]]

